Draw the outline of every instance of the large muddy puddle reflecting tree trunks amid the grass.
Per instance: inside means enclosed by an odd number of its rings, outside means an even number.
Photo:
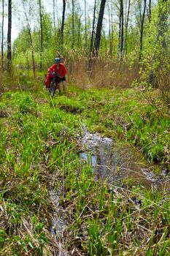
[[[89,162],[96,178],[115,185],[141,184],[144,187],[169,186],[166,171],[158,176],[144,167],[142,156],[132,148],[117,148],[111,138],[85,131],[81,139],[80,159]]]

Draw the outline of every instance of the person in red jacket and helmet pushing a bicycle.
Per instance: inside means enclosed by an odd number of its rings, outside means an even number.
[[[54,61],[55,61],[55,64],[53,64],[48,69],[47,80],[50,80],[51,72],[55,72],[56,84],[58,84],[59,94],[61,94],[61,81],[63,82],[63,93],[66,94],[66,77],[65,77],[66,76],[66,67],[63,63],[61,63],[61,58],[57,57],[57,58],[55,58]]]

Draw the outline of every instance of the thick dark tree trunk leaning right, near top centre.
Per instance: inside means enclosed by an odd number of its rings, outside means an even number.
[[[99,15],[98,15],[98,23],[97,23],[97,29],[96,29],[96,39],[95,39],[95,43],[94,43],[96,56],[98,56],[98,50],[99,50],[99,47],[100,47],[101,28],[102,28],[102,22],[103,22],[103,17],[104,17],[105,4],[106,4],[106,0],[101,0],[101,7],[100,7]]]

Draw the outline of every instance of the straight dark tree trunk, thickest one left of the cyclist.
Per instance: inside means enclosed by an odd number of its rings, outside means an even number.
[[[8,34],[7,34],[7,70],[11,72],[11,29],[12,29],[12,0],[8,0]]]

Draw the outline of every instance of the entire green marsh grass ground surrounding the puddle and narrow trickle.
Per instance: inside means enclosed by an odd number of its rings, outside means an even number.
[[[104,184],[81,163],[82,125],[137,146],[169,168],[169,116],[133,89],[9,91],[0,102],[0,255],[58,255],[50,189],[61,195],[74,255],[169,255],[169,193]],[[136,203],[138,202],[138,203]]]

